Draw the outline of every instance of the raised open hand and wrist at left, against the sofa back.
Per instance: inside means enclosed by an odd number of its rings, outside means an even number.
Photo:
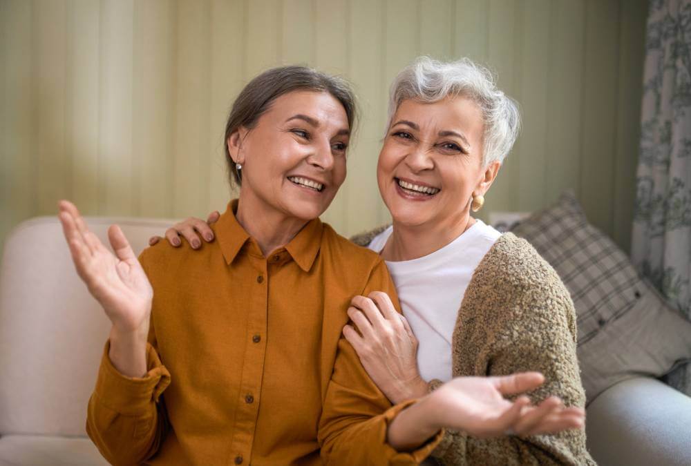
[[[146,338],[153,289],[132,248],[117,225],[108,229],[115,255],[89,231],[77,207],[59,202],[59,220],[79,278],[101,304],[111,329],[109,356],[126,376],[146,373]]]

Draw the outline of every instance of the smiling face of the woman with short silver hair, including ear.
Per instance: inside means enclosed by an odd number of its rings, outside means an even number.
[[[484,124],[466,97],[401,102],[379,154],[379,191],[393,220],[409,226],[462,221],[493,175],[482,164]],[[488,183],[487,176],[491,175]]]

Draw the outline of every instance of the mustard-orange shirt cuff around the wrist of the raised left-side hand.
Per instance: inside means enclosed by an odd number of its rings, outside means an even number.
[[[127,377],[117,371],[108,357],[110,348],[111,342],[108,340],[98,370],[95,394],[104,405],[117,413],[131,416],[141,414],[149,403],[158,401],[160,394],[170,384],[171,375],[149,343],[146,343],[147,372],[142,378]]]

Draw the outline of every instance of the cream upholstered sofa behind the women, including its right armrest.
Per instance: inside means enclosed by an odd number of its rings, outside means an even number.
[[[117,223],[138,253],[172,220]],[[56,217],[23,222],[0,264],[0,466],[104,465],[86,438],[86,403],[110,324],[77,278]],[[651,378],[621,382],[587,410],[600,465],[691,465],[691,398]]]

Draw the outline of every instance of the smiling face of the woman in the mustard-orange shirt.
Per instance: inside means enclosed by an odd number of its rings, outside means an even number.
[[[286,217],[319,217],[345,179],[349,137],[348,117],[332,95],[278,97],[252,130],[241,128],[228,139],[243,165],[240,202],[251,196]]]

